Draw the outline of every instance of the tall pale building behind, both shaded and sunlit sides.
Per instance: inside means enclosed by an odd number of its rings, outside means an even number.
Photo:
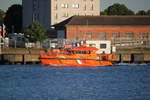
[[[23,0],[22,5],[23,27],[39,21],[48,28],[74,15],[100,15],[99,0]]]

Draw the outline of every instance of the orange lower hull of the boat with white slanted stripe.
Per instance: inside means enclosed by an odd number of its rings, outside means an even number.
[[[110,61],[99,61],[96,59],[63,59],[63,58],[40,58],[43,65],[49,67],[97,67],[112,66]]]

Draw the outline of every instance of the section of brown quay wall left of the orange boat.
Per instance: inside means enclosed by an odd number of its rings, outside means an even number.
[[[43,49],[4,48],[0,54],[0,64],[38,64]]]

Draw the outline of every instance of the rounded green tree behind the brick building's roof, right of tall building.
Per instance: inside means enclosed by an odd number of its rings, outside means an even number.
[[[134,15],[124,4],[115,3],[104,10],[105,15]]]

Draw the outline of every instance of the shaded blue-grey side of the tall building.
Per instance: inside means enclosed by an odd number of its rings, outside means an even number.
[[[22,0],[23,27],[28,27],[33,22],[40,22],[44,28],[50,27],[50,1],[49,0]]]

